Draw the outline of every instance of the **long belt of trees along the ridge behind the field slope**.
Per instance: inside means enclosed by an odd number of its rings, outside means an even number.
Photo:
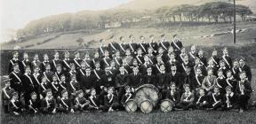
[[[236,15],[246,20],[252,10],[244,5],[236,5]],[[84,11],[75,14],[65,13],[37,19],[28,23],[18,31],[18,37],[31,35],[44,35],[55,32],[74,31],[80,29],[92,30],[104,28],[106,23],[121,22],[134,23],[138,21],[154,21],[166,23],[169,21],[220,21],[231,22],[233,17],[233,4],[212,2],[201,5],[182,4],[174,7],[161,7],[156,10],[136,12],[132,10]]]

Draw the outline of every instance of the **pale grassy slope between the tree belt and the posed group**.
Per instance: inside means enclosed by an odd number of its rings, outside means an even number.
[[[167,40],[172,40],[172,35],[178,34],[182,38],[182,42],[188,46],[191,44],[197,45],[233,45],[233,36],[231,34],[214,35],[225,33],[231,30],[231,24],[220,25],[202,25],[202,26],[184,26],[179,27],[179,24],[170,23],[170,27],[119,27],[112,29],[94,30],[92,34],[84,31],[76,31],[69,33],[58,33],[51,35],[41,35],[37,38],[30,39],[23,43],[2,44],[1,49],[13,49],[15,46],[20,46],[23,49],[54,49],[54,48],[81,48],[84,46],[76,42],[78,38],[84,39],[84,44],[87,47],[98,47],[100,39],[106,39],[106,43],[111,35],[116,37],[124,36],[128,42],[128,35],[134,35],[136,40],[139,40],[140,35],[144,35],[148,40],[148,35],[156,35],[156,40],[159,35],[165,34]],[[185,24],[184,24],[185,25]],[[256,38],[256,22],[238,23],[237,29],[246,29],[244,32],[237,33],[237,44],[244,45],[250,43],[252,38]],[[118,38],[117,38],[118,39]],[[118,42],[118,41],[117,41]]]

